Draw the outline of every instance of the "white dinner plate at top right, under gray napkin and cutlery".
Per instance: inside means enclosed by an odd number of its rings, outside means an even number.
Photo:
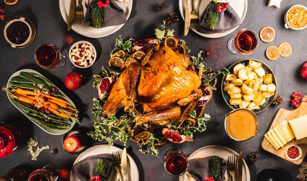
[[[240,17],[241,21],[243,22],[244,17],[246,15],[247,12],[247,0],[227,0],[229,2],[229,4],[231,5],[231,7],[236,11],[236,13],[238,14],[238,16]],[[200,0],[200,3],[198,5],[198,12],[199,12],[199,18],[201,18],[205,8],[207,7],[209,3],[209,0]],[[179,10],[180,10],[180,14],[184,20],[184,12],[186,9],[186,0],[179,0]],[[193,0],[190,0],[190,10],[191,12],[193,11]],[[220,38],[220,37],[224,37],[228,34],[230,34],[231,32],[235,31],[237,27],[234,27],[226,32],[223,33],[200,33],[197,30],[193,30],[195,33],[203,36],[203,37],[207,37],[207,38]]]

